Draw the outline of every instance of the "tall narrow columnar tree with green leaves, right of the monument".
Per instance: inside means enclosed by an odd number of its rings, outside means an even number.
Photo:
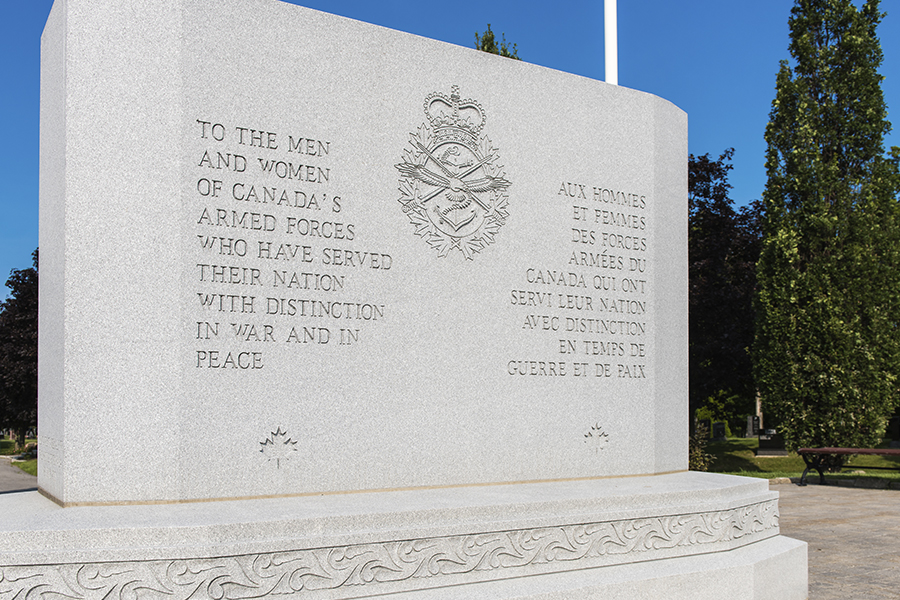
[[[875,445],[897,401],[900,177],[878,4],[796,1],[766,128],[754,370],[792,449]]]

